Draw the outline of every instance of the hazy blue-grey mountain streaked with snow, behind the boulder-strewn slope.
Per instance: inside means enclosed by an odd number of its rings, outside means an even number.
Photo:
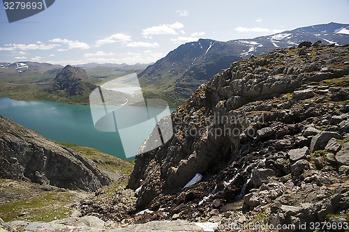
[[[195,88],[228,68],[232,62],[267,54],[274,49],[297,47],[302,41],[320,40],[323,44],[346,45],[349,35],[344,29],[348,27],[349,24],[329,23],[254,39],[187,42],[141,72],[140,84],[148,95],[160,96],[171,105],[180,105]]]

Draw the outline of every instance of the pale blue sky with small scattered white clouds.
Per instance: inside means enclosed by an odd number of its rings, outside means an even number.
[[[349,0],[56,0],[9,23],[0,3],[0,62],[151,63],[185,42],[267,36],[349,23]]]

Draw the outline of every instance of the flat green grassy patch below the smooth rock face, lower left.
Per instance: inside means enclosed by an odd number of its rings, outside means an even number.
[[[0,217],[5,222],[14,219],[29,222],[63,219],[73,212],[69,204],[79,201],[84,195],[58,187],[49,188],[50,192],[47,192],[45,187],[36,183],[0,179],[0,191],[5,193],[0,198]]]

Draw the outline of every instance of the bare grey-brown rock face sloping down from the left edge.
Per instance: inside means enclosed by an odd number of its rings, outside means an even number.
[[[112,182],[70,148],[0,116],[0,178],[95,191]]]

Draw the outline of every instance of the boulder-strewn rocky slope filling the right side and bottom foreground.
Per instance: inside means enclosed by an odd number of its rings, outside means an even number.
[[[174,136],[136,156],[129,180],[75,202],[66,219],[3,228],[345,231],[348,52],[302,43],[232,63],[172,113]]]

